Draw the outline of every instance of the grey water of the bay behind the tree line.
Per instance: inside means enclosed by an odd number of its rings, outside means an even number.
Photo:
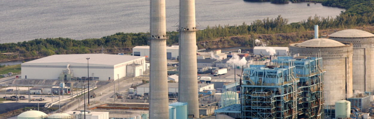
[[[101,38],[117,32],[147,32],[149,0],[1,0],[0,43],[36,38]],[[250,24],[282,15],[291,22],[309,16],[335,17],[344,9],[320,3],[272,4],[243,0],[196,0],[200,29],[214,25]],[[169,31],[178,23],[179,0],[166,0]]]

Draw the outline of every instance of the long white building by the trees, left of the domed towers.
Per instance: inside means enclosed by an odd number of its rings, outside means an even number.
[[[286,56],[289,51],[288,47],[264,47],[264,46],[255,46],[253,48],[254,55],[260,55],[260,53],[264,55],[270,55],[269,52],[273,52],[274,55],[278,56]]]

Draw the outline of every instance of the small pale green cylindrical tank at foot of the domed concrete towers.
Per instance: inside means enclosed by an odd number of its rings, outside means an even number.
[[[350,102],[347,100],[338,100],[335,102],[335,118],[349,118]]]

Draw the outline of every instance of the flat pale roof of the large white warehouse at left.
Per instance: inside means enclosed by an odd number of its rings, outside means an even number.
[[[48,57],[40,58],[33,61],[28,61],[22,64],[34,64],[34,63],[82,63],[87,64],[86,58],[89,59],[89,64],[102,64],[102,65],[116,65],[123,62],[132,61],[141,56],[130,56],[130,55],[111,55],[111,54],[69,54],[69,55],[51,55]]]

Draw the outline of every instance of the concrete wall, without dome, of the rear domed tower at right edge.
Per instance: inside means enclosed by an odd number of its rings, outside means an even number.
[[[374,38],[336,38],[353,45],[353,90],[374,93]]]

